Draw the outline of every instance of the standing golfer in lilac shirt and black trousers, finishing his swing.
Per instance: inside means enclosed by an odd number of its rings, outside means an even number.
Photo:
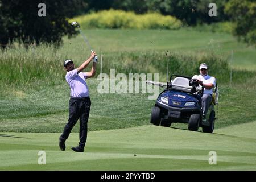
[[[77,69],[75,69],[75,65],[72,60],[68,59],[64,61],[64,68],[67,71],[66,80],[71,89],[71,97],[69,100],[68,123],[65,125],[63,134],[61,134],[59,138],[60,150],[65,150],[65,140],[68,139],[72,128],[75,126],[77,120],[80,119],[80,142],[77,147],[72,147],[72,150],[76,152],[84,152],[87,139],[87,123],[90,112],[90,97],[86,79],[93,77],[96,73],[97,60],[94,59],[96,55],[96,52],[92,52],[89,59],[84,61],[84,63],[82,63]],[[90,72],[81,72],[93,59],[93,66]]]

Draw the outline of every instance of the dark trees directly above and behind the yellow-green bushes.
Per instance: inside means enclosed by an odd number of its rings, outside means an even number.
[[[84,0],[88,11],[100,11],[109,9],[121,9],[134,11],[137,14],[156,11],[163,15],[171,15],[183,20],[188,25],[198,23],[212,23],[229,20],[229,16],[224,14],[225,3],[229,0]],[[208,15],[209,4],[216,3],[217,16]],[[84,11],[84,13],[86,13]]]

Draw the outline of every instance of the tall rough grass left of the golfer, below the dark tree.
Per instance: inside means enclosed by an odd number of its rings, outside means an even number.
[[[16,45],[0,52],[2,85],[55,85],[63,77],[61,55],[52,46]]]

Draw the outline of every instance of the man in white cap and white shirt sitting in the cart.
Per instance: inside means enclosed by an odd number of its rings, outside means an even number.
[[[192,79],[198,79],[198,83],[204,86],[204,94],[201,97],[202,109],[203,109],[203,121],[206,121],[206,114],[212,102],[213,88],[216,85],[216,80],[213,76],[208,75],[208,65],[205,63],[200,64],[199,67],[200,75],[195,75]]]

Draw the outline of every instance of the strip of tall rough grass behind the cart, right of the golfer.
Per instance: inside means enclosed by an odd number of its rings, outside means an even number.
[[[115,55],[104,55],[105,73],[115,68],[116,73],[159,73],[160,80],[166,80],[167,64],[169,74],[193,76],[199,75],[199,65],[209,65],[209,75],[221,83],[228,83],[230,67],[228,60],[212,52],[119,52]],[[168,63],[167,63],[168,62]],[[255,72],[233,71],[233,81],[242,82],[252,77]]]

